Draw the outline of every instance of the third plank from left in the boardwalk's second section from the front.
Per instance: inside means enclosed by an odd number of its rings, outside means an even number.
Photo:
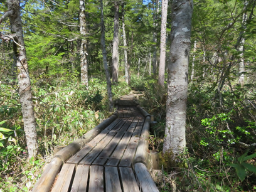
[[[98,164],[98,165],[104,165],[107,161],[108,157],[112,152],[115,150],[115,147],[119,143],[120,139],[122,139],[122,136],[124,136],[124,132],[127,131],[129,126],[131,125],[133,118],[130,118],[125,122],[125,124],[121,127],[119,132],[115,135],[115,137],[107,144],[107,146],[104,148],[104,150],[100,153],[100,155],[93,161],[92,164]]]

